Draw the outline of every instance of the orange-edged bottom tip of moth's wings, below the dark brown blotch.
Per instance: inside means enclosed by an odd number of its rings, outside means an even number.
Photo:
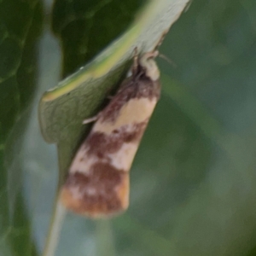
[[[104,191],[102,194],[102,191],[98,190],[95,195],[90,195],[88,192],[83,193],[82,190],[75,184],[71,186],[66,183],[60,194],[62,205],[67,210],[89,218],[111,218],[125,212],[129,206],[128,174],[124,175],[122,182],[112,191]]]

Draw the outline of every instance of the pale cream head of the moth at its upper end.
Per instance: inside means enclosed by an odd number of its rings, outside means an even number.
[[[145,70],[146,76],[153,81],[160,78],[160,71],[154,61],[156,55],[158,55],[158,51],[149,52],[144,54],[140,59],[140,65]]]

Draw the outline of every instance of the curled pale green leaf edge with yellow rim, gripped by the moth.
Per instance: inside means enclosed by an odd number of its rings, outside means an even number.
[[[41,128],[48,142],[58,144],[61,173],[67,172],[84,134],[83,119],[96,114],[103,99],[120,81],[121,74],[127,72],[126,64],[135,47],[144,52],[154,49],[187,1],[175,3],[148,1],[122,37],[89,65],[44,94],[39,108]]]

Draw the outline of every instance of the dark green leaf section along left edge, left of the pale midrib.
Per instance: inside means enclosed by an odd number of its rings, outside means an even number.
[[[37,255],[23,197],[22,137],[36,88],[38,0],[0,2],[0,254]]]

